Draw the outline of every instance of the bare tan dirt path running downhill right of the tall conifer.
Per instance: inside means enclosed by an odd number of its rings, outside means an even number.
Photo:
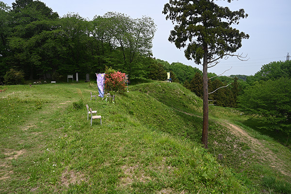
[[[271,167],[274,168],[276,171],[279,171],[283,175],[291,177],[290,168],[288,168],[288,165],[285,164],[281,159],[279,159],[276,154],[267,147],[267,144],[269,144],[268,142],[264,140],[258,140],[250,136],[245,130],[231,123],[224,122],[221,124],[228,128],[230,132],[236,137],[240,138],[241,141],[247,143],[252,151],[256,153],[255,155],[257,158],[264,162],[270,162]]]

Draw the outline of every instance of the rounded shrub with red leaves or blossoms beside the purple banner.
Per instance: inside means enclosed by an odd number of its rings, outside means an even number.
[[[125,73],[113,71],[105,75],[105,90],[107,92],[124,92],[125,88]]]

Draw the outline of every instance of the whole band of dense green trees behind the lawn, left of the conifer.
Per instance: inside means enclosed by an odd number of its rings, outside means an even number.
[[[130,78],[147,78],[153,19],[107,13],[93,20],[78,14],[59,17],[41,1],[0,1],[0,79],[10,68],[26,79],[104,72],[105,65]],[[0,80],[2,81],[2,80]]]

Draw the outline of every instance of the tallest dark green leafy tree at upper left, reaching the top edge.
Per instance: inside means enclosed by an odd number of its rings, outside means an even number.
[[[42,64],[40,45],[44,41],[43,32],[52,31],[51,23],[59,18],[45,3],[32,0],[16,0],[12,4],[12,35],[8,39],[12,63],[24,70],[32,80]]]

